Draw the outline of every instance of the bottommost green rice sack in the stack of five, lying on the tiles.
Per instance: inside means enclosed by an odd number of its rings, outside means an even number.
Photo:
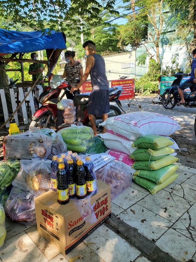
[[[150,193],[152,195],[154,195],[156,192],[158,192],[159,190],[165,188],[166,186],[168,186],[169,184],[171,184],[172,182],[174,182],[174,180],[178,177],[178,174],[173,174],[171,175],[167,180],[165,180],[165,182],[163,182],[162,184],[156,184],[148,179],[145,178],[141,178],[137,175],[133,175],[133,180],[135,183],[137,183],[138,185],[148,189],[150,191]]]

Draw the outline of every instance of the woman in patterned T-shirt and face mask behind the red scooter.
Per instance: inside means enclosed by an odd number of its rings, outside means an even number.
[[[64,67],[63,75],[61,75],[62,78],[66,78],[66,81],[69,84],[71,84],[71,87],[77,86],[77,84],[71,83],[73,77],[77,77],[81,79],[81,77],[83,76],[83,68],[81,63],[79,61],[74,60],[75,53],[76,53],[75,51],[70,51],[70,50],[65,52],[65,60],[67,63]],[[79,90],[73,92],[74,96],[79,95],[81,91],[82,91],[82,86],[81,88],[79,88]],[[69,91],[66,90],[67,99],[73,100],[74,96],[70,94]]]

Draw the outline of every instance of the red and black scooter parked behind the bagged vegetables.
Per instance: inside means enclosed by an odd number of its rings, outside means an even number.
[[[74,83],[79,83],[79,81],[80,80],[78,78],[74,78],[72,80]],[[64,97],[65,90],[70,90],[70,84],[68,84],[62,77],[53,74],[49,74],[49,83],[50,85],[40,94],[39,103],[42,104],[42,106],[35,112],[35,114],[32,115],[30,127],[48,127],[50,126],[53,116],[55,128],[59,130],[61,128],[70,126],[70,124],[64,123],[61,110],[57,109],[57,103],[61,91],[64,90],[60,100]],[[109,101],[116,102],[119,108],[125,112],[121,102],[119,101],[119,96],[122,92],[122,87],[110,88]],[[78,122],[83,124],[89,123],[89,115],[87,113],[89,95],[90,93],[85,93],[74,97],[74,105],[76,107],[76,121],[73,124],[77,124]],[[110,105],[108,117],[121,115],[119,108]],[[96,116],[96,125],[98,126],[99,123],[102,123],[101,116]]]

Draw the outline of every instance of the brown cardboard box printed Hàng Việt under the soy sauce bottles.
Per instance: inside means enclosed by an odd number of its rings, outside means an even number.
[[[74,201],[66,205],[57,202],[57,192],[52,190],[35,198],[37,230],[63,254],[68,254],[96,228],[111,216],[110,185],[98,181],[98,193],[91,197],[97,221],[86,222]]]

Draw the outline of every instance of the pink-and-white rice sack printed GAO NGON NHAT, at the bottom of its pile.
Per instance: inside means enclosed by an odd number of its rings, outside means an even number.
[[[130,159],[129,155],[110,149],[107,150],[105,153],[113,156],[115,158],[114,160],[119,163],[119,166],[126,170],[128,173],[133,174],[134,172],[136,172],[136,170],[132,168],[135,160]]]

